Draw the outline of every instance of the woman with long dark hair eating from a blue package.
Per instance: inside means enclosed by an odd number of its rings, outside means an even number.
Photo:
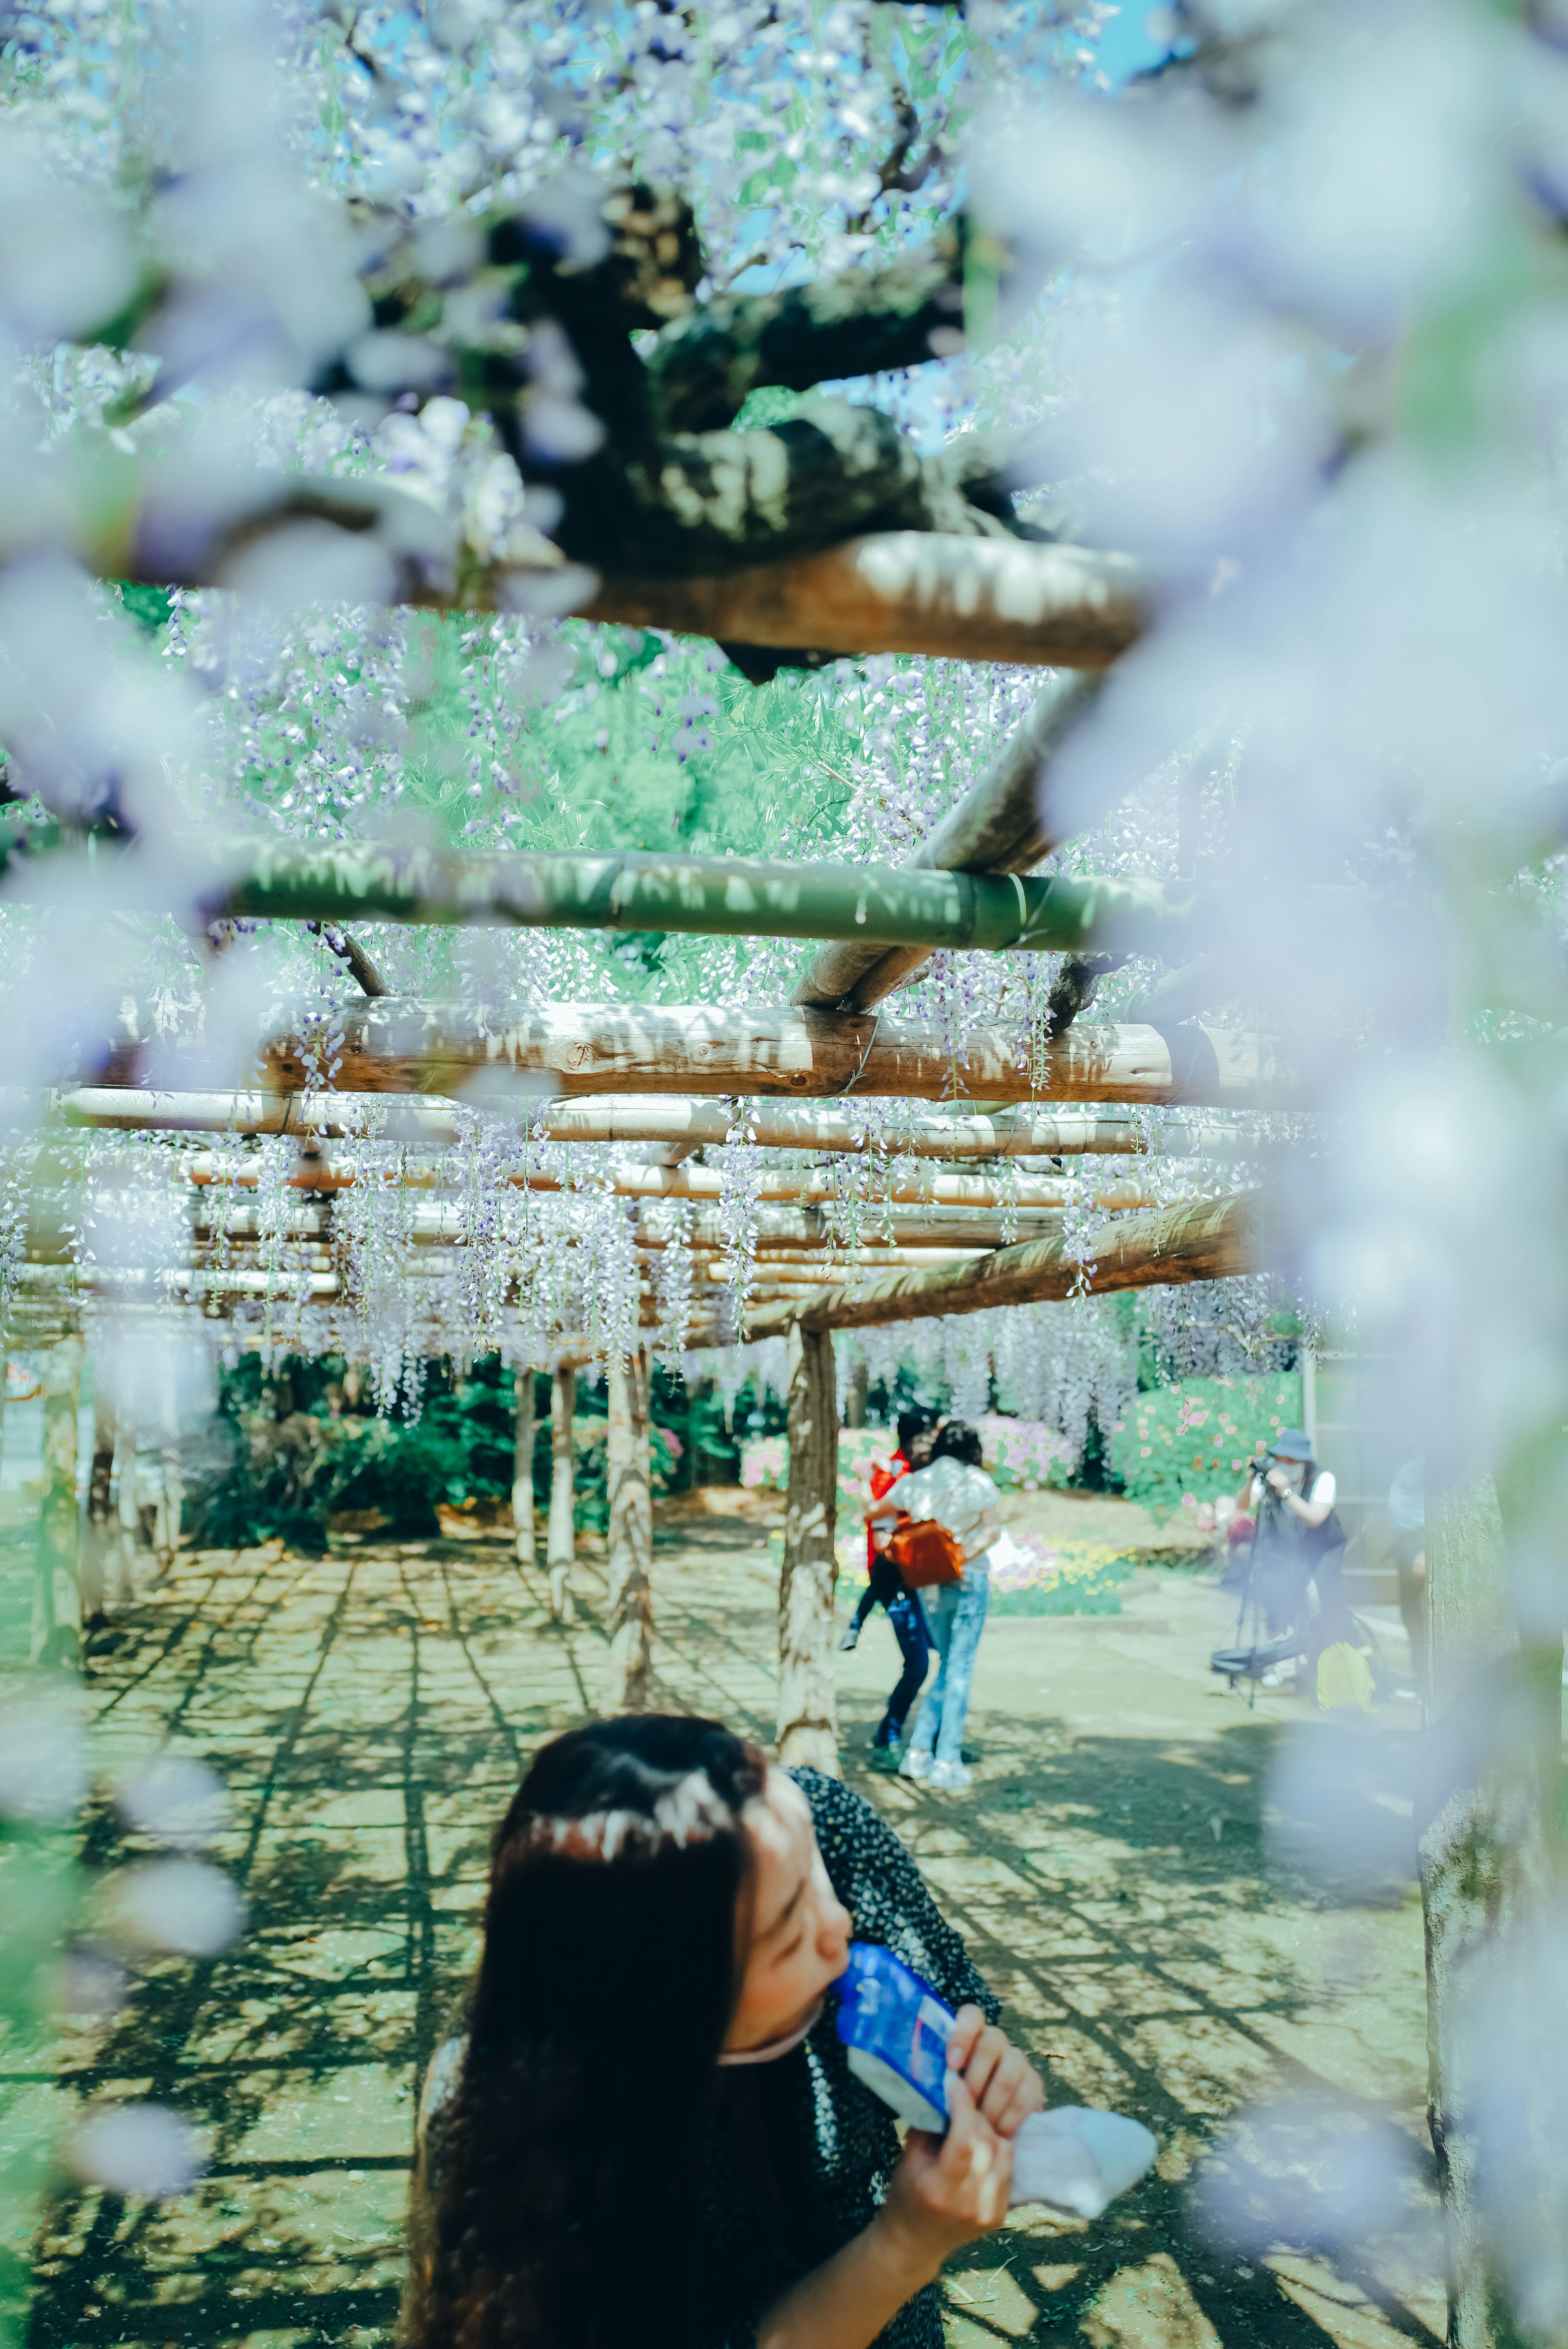
[[[945,2138],[849,2072],[849,1940],[950,2006]],[[421,2100],[407,2349],[940,2349],[929,2288],[999,2227],[1041,2105],[863,1797],[719,1722],[541,1750]]]

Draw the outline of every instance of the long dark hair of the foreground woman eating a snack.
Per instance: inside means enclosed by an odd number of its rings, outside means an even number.
[[[719,1722],[661,1712],[534,1759],[491,1849],[461,2079],[421,2149],[409,2349],[689,2349],[741,1811],[764,1778]]]

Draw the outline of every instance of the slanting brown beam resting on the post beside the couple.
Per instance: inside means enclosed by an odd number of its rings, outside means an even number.
[[[875,1330],[886,1322],[924,1320],[931,1313],[1039,1304],[1072,1297],[1079,1287],[1103,1292],[1227,1280],[1260,1268],[1260,1193],[1237,1191],[1229,1198],[1107,1224],[1095,1238],[1093,1264],[1070,1257],[1060,1236],[1027,1240],[1023,1247],[999,1247],[952,1273],[889,1273],[858,1297],[823,1292],[818,1306],[804,1299],[766,1306],[750,1315],[750,1334],[773,1337],[795,1320],[806,1330]]]

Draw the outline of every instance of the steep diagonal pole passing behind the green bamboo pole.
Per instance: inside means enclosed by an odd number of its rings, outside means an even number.
[[[1025,874],[1058,846],[1041,820],[1039,778],[1051,752],[1093,707],[1098,677],[1067,672],[1048,686],[985,775],[919,843],[912,867],[969,874]],[[818,1010],[870,1010],[924,965],[922,947],[875,949],[870,942],[820,947],[792,1003]]]

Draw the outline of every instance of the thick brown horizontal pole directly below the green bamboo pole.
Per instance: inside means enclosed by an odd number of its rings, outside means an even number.
[[[893,1095],[929,1102],[1192,1102],[1300,1106],[1302,1081],[1258,1036],[1220,1029],[1077,1024],[1037,1050],[1023,1027],[940,1027],[835,1012],[715,1012],[708,1005],[503,1003],[386,996],[341,1010],[341,1073],[357,1092],[456,1092],[480,1073],[576,1092]],[[134,1059],[134,1048],[127,1048]],[[313,1043],[263,1045],[270,1081],[303,1092]],[[129,1076],[129,1071],[127,1071]],[[520,1113],[527,1111],[520,1104]]]

